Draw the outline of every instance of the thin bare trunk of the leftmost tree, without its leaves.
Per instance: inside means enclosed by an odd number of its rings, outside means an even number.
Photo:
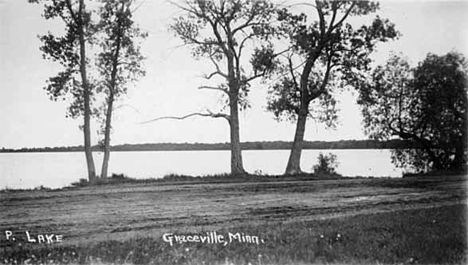
[[[79,3],[79,42],[80,42],[80,74],[81,83],[83,86],[83,100],[84,100],[84,147],[86,155],[86,164],[88,166],[88,178],[90,182],[96,179],[96,169],[94,167],[93,153],[91,151],[91,108],[90,108],[90,89],[88,77],[86,74],[86,44],[84,37],[83,13],[84,13],[84,0]]]

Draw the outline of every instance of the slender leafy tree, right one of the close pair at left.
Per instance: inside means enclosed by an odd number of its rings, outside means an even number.
[[[98,29],[102,51],[97,64],[103,82],[98,85],[97,91],[103,91],[106,95],[101,178],[107,177],[114,102],[126,93],[128,83],[145,74],[141,65],[143,56],[135,41],[145,38],[146,33],[142,33],[132,20],[132,3],[132,0],[102,0],[100,9]]]

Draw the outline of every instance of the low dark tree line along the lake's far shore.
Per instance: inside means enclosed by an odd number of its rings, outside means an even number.
[[[289,150],[292,142],[287,141],[255,141],[241,143],[242,150]],[[145,143],[123,144],[111,146],[111,151],[207,151],[230,150],[229,143]],[[418,143],[405,140],[341,140],[341,141],[304,141],[303,149],[408,149],[420,148]],[[102,151],[99,145],[92,146],[92,151]],[[27,153],[27,152],[83,152],[84,147],[61,146],[39,148],[2,148],[2,153]]]

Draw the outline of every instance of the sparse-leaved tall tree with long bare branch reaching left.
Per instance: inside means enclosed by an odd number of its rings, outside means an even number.
[[[265,41],[274,33],[271,26],[274,6],[266,0],[187,1],[179,8],[185,14],[175,20],[171,29],[185,44],[193,47],[196,58],[209,59],[215,71],[207,79],[221,78],[218,86],[201,86],[200,89],[221,91],[227,98],[228,113],[197,113],[188,115],[224,118],[230,126],[231,173],[244,173],[240,146],[239,110],[248,107],[249,83],[272,71],[274,53],[271,46],[255,49],[252,73],[243,68],[249,42]],[[247,62],[248,63],[248,62]]]

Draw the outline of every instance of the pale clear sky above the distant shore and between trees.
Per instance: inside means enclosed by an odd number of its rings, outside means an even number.
[[[177,1],[176,1],[177,2]],[[141,4],[141,5],[140,5]],[[146,76],[129,87],[117,104],[112,144],[229,141],[223,119],[195,117],[183,121],[142,122],[163,116],[183,116],[216,110],[219,94],[198,90],[202,76],[213,69],[206,60],[195,60],[190,49],[168,30],[172,18],[182,13],[166,0],[138,2],[135,20],[149,36],[142,43]],[[59,22],[45,21],[43,8],[26,0],[0,0],[0,148],[82,145],[82,119],[65,117],[67,102],[51,101],[43,87],[60,66],[44,60],[38,35],[60,33]],[[458,51],[468,56],[468,1],[381,1],[378,14],[395,23],[402,36],[378,46],[375,64],[391,52],[402,53],[413,64],[427,53]],[[307,12],[307,10],[305,10]],[[255,83],[249,95],[252,108],[241,113],[241,141],[291,141],[295,124],[277,122],[266,112],[267,87]],[[366,139],[355,93],[339,96],[340,124],[327,130],[310,120],[305,140]],[[92,131],[98,129],[93,124]],[[98,137],[93,133],[93,143]]]

